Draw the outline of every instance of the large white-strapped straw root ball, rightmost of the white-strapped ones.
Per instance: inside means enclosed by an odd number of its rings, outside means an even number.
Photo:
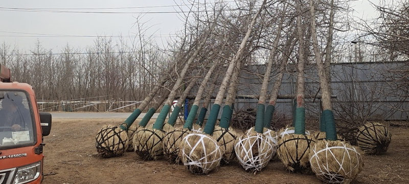
[[[319,141],[310,149],[311,169],[328,183],[350,183],[362,171],[359,148],[342,141]]]

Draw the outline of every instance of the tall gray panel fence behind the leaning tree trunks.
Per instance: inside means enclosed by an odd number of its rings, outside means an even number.
[[[407,62],[376,62],[376,63],[337,63],[331,65],[331,87],[334,111],[337,118],[360,117],[362,119],[408,120],[409,113],[402,109],[409,109],[409,100],[395,93],[389,81],[390,71]],[[238,95],[259,95],[264,75],[265,65],[245,66],[240,74]],[[296,69],[287,66],[279,95],[296,94]],[[306,67],[306,95],[315,96],[319,93],[319,78],[315,65]],[[271,72],[270,91],[275,82],[276,71]],[[261,76],[261,77],[260,77]],[[218,80],[221,81],[220,77]],[[216,95],[218,89],[215,89]],[[193,91],[192,94],[195,94]],[[256,108],[257,99],[237,99],[235,109]],[[212,101],[213,102],[213,101]],[[284,118],[292,117],[291,99],[278,99],[276,114]],[[306,116],[318,118],[320,99],[306,99]],[[221,114],[221,112],[220,112]],[[220,115],[219,114],[219,115]]]

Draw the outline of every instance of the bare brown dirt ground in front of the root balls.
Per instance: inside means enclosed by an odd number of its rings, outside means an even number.
[[[314,175],[289,173],[279,160],[253,175],[236,162],[208,175],[194,175],[165,159],[144,161],[134,152],[113,158],[96,156],[95,135],[121,119],[54,119],[44,137],[43,183],[321,183]],[[409,183],[409,122],[391,126],[387,153],[364,156],[365,168],[355,183]]]

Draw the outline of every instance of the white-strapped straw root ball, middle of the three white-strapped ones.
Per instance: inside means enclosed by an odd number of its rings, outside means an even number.
[[[255,131],[240,136],[234,147],[240,165],[246,171],[261,171],[274,154],[274,144],[264,134]]]

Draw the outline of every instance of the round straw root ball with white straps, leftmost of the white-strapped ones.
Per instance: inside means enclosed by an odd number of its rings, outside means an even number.
[[[208,174],[216,169],[223,153],[216,140],[203,133],[189,133],[180,144],[182,162],[194,174]]]

